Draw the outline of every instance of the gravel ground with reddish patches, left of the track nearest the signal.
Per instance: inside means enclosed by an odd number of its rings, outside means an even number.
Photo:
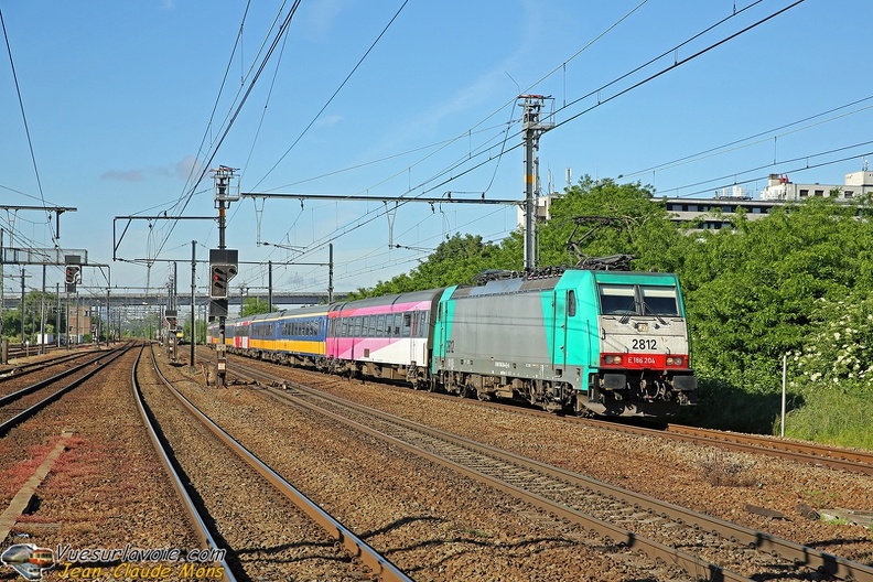
[[[71,548],[193,548],[182,514],[134,408],[130,370],[136,351],[0,439],[0,484],[11,498],[63,430],[65,452],[0,548],[35,543]],[[9,454],[7,454],[9,453]],[[12,492],[11,494],[9,492]],[[60,571],[45,580],[57,579]],[[0,567],[0,580],[18,574]]]

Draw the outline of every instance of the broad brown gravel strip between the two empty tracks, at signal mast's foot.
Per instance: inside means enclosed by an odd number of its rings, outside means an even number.
[[[261,389],[186,396],[416,580],[689,580]]]

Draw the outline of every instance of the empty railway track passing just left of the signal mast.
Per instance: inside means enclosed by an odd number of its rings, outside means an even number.
[[[160,374],[154,358],[151,370]],[[140,367],[140,373],[148,370]],[[280,580],[289,576],[283,564],[300,562],[301,578],[344,579],[354,568],[359,576],[409,580],[203,414],[169,378],[140,384],[191,483],[190,495],[208,514],[204,521],[213,524],[216,543],[228,549],[233,571],[251,580]],[[208,434],[190,422],[192,416]]]

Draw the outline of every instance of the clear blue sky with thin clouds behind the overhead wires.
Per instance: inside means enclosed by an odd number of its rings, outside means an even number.
[[[200,260],[219,245],[224,165],[231,292],[266,292],[268,261],[276,290],[324,291],[328,245],[336,291],[373,287],[453,235],[499,241],[518,208],[246,194],[520,202],[519,95],[553,123],[542,193],[584,175],[669,197],[757,197],[772,173],[841,184],[873,157],[873,4],[795,2],[0,0],[3,245],[85,250],[108,266],[83,270],[85,295],[165,293],[174,270],[187,293],[192,241]],[[17,206],[75,211],[58,233]]]

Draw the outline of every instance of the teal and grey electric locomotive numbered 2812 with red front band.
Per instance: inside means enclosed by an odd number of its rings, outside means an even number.
[[[675,274],[568,270],[442,291],[431,381],[547,410],[667,417],[696,402]]]

